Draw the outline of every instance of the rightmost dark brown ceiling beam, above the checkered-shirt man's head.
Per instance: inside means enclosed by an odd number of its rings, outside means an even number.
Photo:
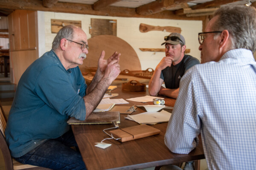
[[[219,7],[221,5],[225,5],[227,3],[233,3],[240,0],[212,0],[206,3],[201,3],[195,6],[192,6],[192,9],[203,9],[203,8],[214,8]]]

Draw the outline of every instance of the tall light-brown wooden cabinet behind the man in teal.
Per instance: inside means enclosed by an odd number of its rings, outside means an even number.
[[[21,75],[38,59],[37,11],[16,10],[8,16],[10,78],[18,83]]]

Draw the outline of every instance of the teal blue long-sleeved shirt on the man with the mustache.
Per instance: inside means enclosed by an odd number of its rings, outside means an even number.
[[[66,133],[69,116],[84,120],[86,88],[79,67],[66,70],[53,50],[35,60],[20,78],[9,112],[5,134],[12,156]]]

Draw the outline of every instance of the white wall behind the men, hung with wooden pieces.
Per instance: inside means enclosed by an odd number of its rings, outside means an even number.
[[[44,13],[44,16],[41,15]],[[68,14],[57,12],[40,12],[38,20],[44,20],[44,23],[38,25],[38,27],[44,26],[44,32],[42,29],[38,30],[39,36],[45,37],[45,51],[51,50],[52,40],[56,34],[51,33],[51,19],[59,20],[80,20],[82,23],[82,29],[87,34],[87,38],[90,38],[89,26],[91,18],[111,19],[117,20],[117,37],[128,42],[136,51],[141,68],[143,70],[147,68],[155,68],[160,60],[165,56],[164,52],[149,52],[140,51],[139,48],[164,48],[161,43],[164,42],[163,37],[169,35],[169,32],[163,31],[149,31],[142,33],[139,30],[140,23],[145,23],[152,26],[175,26],[181,28],[181,34],[185,37],[186,48],[190,49],[189,55],[200,59],[200,51],[198,50],[198,32],[202,32],[202,21],[190,21],[190,20],[167,20],[167,19],[151,19],[151,18],[128,18],[128,17],[105,17],[96,15],[84,15],[84,14]],[[44,19],[42,19],[44,17]],[[42,36],[41,36],[42,40]],[[90,46],[90,44],[89,44]],[[101,49],[104,50],[104,49]],[[116,49],[118,51],[118,48]],[[89,48],[90,53],[90,48]],[[41,55],[40,55],[41,56]]]

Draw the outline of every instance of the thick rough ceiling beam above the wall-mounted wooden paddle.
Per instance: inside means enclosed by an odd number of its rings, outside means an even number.
[[[161,11],[165,11],[177,6],[184,6],[184,3],[192,0],[156,0],[151,3],[136,8],[137,14],[151,15]]]

